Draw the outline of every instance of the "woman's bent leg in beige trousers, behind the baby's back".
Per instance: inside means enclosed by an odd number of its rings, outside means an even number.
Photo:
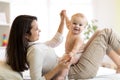
[[[104,29],[89,44],[76,65],[71,66],[70,79],[86,79],[96,76],[108,44],[116,51],[120,49],[120,39],[111,29]]]

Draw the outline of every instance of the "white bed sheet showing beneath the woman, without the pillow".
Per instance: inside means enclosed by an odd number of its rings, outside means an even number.
[[[30,79],[29,71],[23,73],[24,79]],[[72,79],[73,80],[73,79]],[[114,69],[99,67],[97,75],[93,79],[78,79],[78,80],[120,80],[120,74],[116,74]]]

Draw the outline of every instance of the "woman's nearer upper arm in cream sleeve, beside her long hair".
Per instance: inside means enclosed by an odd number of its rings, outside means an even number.
[[[45,55],[43,54],[43,48],[40,46],[30,46],[27,52],[27,62],[30,68],[31,80],[45,80],[42,75],[43,61]]]

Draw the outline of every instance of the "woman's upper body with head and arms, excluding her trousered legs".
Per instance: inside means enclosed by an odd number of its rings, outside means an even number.
[[[32,80],[51,80],[62,69],[69,67],[69,63],[58,64],[58,57],[53,49],[63,39],[63,12],[60,14],[61,22],[56,35],[45,43],[38,42],[41,30],[38,29],[35,16],[20,15],[15,18],[7,46],[7,64],[13,70],[22,72],[30,68]]]

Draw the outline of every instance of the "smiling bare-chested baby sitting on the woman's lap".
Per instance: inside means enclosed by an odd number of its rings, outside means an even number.
[[[80,33],[86,28],[88,22],[82,13],[74,14],[71,20],[68,19],[66,11],[63,11],[62,15],[65,18],[69,32],[65,42],[65,54],[61,61],[70,62],[71,65],[74,65],[80,58],[80,52],[83,51],[83,40]],[[56,80],[65,80],[68,71],[67,69],[62,70]]]

